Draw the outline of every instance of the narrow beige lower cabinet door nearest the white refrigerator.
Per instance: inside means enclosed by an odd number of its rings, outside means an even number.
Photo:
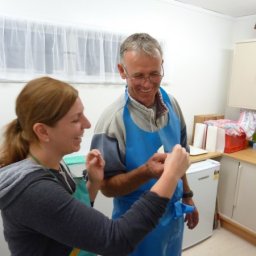
[[[218,187],[219,212],[232,218],[239,162],[222,157]]]

